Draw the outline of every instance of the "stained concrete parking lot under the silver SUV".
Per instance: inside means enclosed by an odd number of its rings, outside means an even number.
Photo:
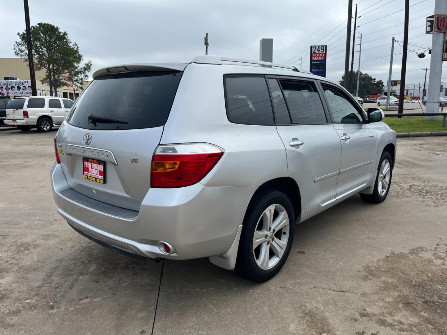
[[[0,128],[1,334],[447,334],[447,138],[399,139],[387,200],[303,222],[257,284],[77,234],[51,193],[55,134]]]

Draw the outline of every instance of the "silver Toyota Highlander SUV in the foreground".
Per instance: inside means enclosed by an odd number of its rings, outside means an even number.
[[[53,195],[68,224],[105,247],[209,257],[267,281],[295,222],[356,193],[385,200],[396,134],[383,117],[291,66],[198,56],[107,67],[55,137]]]

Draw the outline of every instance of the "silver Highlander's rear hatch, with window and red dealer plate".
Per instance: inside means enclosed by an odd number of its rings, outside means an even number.
[[[57,134],[71,188],[111,205],[139,210],[151,185],[152,155],[181,74],[140,70],[93,80]]]

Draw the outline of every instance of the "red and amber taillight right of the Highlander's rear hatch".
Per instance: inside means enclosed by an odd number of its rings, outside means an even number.
[[[160,145],[152,157],[151,187],[183,187],[202,180],[223,155],[209,143]]]

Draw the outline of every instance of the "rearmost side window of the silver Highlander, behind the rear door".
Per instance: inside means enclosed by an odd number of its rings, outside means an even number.
[[[225,77],[225,88],[230,121],[253,125],[274,124],[264,76]]]

